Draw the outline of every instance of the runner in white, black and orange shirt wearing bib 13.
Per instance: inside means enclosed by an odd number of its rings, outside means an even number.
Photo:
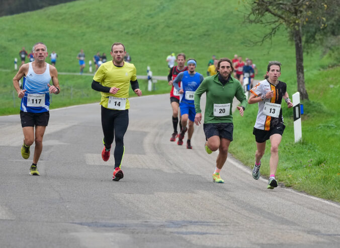
[[[255,153],[252,177],[256,180],[260,178],[261,158],[265,154],[266,140],[270,139],[271,141],[268,189],[274,189],[278,186],[275,173],[279,162],[279,145],[283,131],[285,130],[281,109],[282,98],[285,99],[288,108],[293,107],[287,93],[286,83],[278,80],[280,75],[281,63],[279,61],[270,61],[265,80],[258,82],[258,84],[250,90],[251,95],[248,99],[248,104],[259,103],[258,116],[253,129],[257,151]]]

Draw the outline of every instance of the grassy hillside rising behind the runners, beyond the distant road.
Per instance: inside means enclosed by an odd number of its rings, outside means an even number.
[[[116,6],[120,6],[119,11]],[[269,60],[280,60],[294,75],[294,47],[282,30],[264,46],[250,47],[249,40],[266,29],[242,24],[243,4],[238,1],[121,1],[84,0],[43,10],[0,18],[2,29],[0,64],[13,67],[22,46],[31,49],[37,41],[46,43],[49,52],[58,53],[59,71],[77,72],[76,55],[82,48],[87,61],[97,51],[109,55],[113,42],[123,42],[139,74],[150,65],[156,75],[165,75],[166,56],[185,52],[198,61],[205,73],[208,60],[232,57],[235,53],[253,58],[260,74]],[[314,53],[313,53],[314,54]],[[306,59],[306,68],[320,63],[318,54]]]

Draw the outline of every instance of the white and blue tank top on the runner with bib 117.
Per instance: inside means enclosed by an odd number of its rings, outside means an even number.
[[[42,74],[34,72],[32,62],[29,63],[26,80],[23,89],[26,90],[25,96],[21,100],[20,110],[30,113],[42,113],[49,111],[50,94],[48,91],[51,81],[50,65],[46,63],[46,70]],[[44,101],[45,100],[45,101]]]

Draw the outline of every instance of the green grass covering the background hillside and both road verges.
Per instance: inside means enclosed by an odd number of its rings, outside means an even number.
[[[78,72],[76,56],[80,49],[88,61],[99,51],[110,58],[113,42],[122,42],[132,57],[138,75],[146,75],[149,65],[154,75],[167,75],[165,61],[171,53],[186,53],[198,62],[197,71],[206,75],[207,63],[214,54],[252,58],[262,79],[269,60],[282,62],[282,76],[291,96],[297,91],[294,44],[286,30],[277,32],[273,41],[251,46],[268,30],[243,23],[245,1],[217,0],[194,2],[165,0],[82,0],[42,10],[0,18],[0,115],[18,114],[20,100],[13,93],[14,58],[24,46],[27,51],[41,41],[48,51],[58,54],[59,72]],[[117,8],[118,7],[118,8]],[[286,186],[339,201],[340,167],[338,102],[340,72],[338,67],[324,70],[340,61],[330,55],[320,57],[320,48],[305,53],[306,88],[310,102],[305,102],[303,142],[294,144],[292,111],[284,108],[286,130],[280,146],[278,178]],[[49,62],[49,59],[47,60]],[[321,70],[323,69],[323,70]],[[143,94],[146,80],[139,80]],[[51,108],[98,102],[99,93],[91,89],[92,76],[59,75],[61,93],[52,97]],[[330,86],[333,87],[330,87]],[[157,91],[166,93],[166,82],[158,81]],[[131,94],[132,96],[134,94]],[[334,103],[335,102],[335,103]],[[243,118],[235,118],[234,142],[230,149],[235,157],[252,166],[255,142],[252,126],[257,106],[246,109]],[[170,128],[170,126],[169,126]],[[269,145],[268,145],[269,147]],[[269,151],[263,159],[269,159]],[[262,174],[268,174],[266,166]]]

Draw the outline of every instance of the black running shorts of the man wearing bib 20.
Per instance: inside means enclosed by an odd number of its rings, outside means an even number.
[[[232,141],[232,132],[234,124],[232,123],[204,123],[203,130],[205,137],[208,139],[212,136],[219,136],[220,138],[229,139]]]

